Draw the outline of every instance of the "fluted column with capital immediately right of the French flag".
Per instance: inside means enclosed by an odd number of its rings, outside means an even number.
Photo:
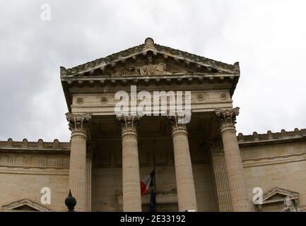
[[[179,124],[179,116],[168,116],[172,124],[172,140],[177,180],[179,211],[197,210],[192,160],[189,152],[187,124]]]

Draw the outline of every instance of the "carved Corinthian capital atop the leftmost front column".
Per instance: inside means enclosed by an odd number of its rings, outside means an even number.
[[[72,114],[66,113],[66,119],[69,121],[69,129],[72,132],[81,131],[86,132],[92,114]]]

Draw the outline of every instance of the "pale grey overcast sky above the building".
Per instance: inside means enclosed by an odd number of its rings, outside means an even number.
[[[40,18],[44,3],[51,20]],[[69,141],[59,66],[146,37],[228,64],[240,61],[237,132],[306,128],[306,1],[0,0],[0,140]]]

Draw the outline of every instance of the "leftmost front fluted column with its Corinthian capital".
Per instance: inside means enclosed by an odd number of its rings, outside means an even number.
[[[76,198],[76,211],[86,211],[86,139],[91,114],[66,113],[71,130],[69,189]]]

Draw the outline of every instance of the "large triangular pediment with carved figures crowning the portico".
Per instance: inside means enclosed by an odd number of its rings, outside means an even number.
[[[155,44],[144,44],[86,64],[65,69],[61,77],[74,76],[163,76],[178,74],[240,73],[239,64],[225,64],[195,54]]]

